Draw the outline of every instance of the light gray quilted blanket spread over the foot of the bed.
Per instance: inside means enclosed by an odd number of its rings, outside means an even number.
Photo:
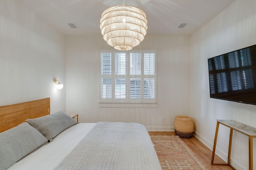
[[[146,127],[138,123],[98,122],[54,170],[162,168]]]

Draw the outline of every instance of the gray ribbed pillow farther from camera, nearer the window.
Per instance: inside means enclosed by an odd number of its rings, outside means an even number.
[[[77,123],[64,111],[58,111],[36,119],[27,119],[26,121],[48,140],[56,137],[60,132]]]

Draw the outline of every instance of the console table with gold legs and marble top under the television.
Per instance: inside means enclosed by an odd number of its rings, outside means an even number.
[[[234,120],[216,120],[217,125],[216,125],[216,132],[215,132],[215,138],[214,138],[214,145],[212,149],[212,160],[211,164],[212,165],[228,165],[232,169],[236,170],[231,164],[230,164],[230,155],[231,155],[231,147],[232,147],[232,136],[233,136],[233,130],[238,131],[246,136],[249,137],[249,170],[253,170],[253,138],[256,137],[256,128],[245,125],[243,123],[240,123],[238,121]],[[223,164],[223,163],[214,163],[214,156],[215,156],[215,149],[216,149],[216,143],[217,143],[217,137],[218,137],[218,130],[219,130],[219,125],[222,124],[226,127],[230,128],[230,136],[229,136],[229,146],[228,146],[228,162]]]

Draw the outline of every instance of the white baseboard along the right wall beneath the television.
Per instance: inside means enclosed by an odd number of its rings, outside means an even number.
[[[196,131],[194,131],[193,135],[199,140],[201,141],[204,145],[206,145],[206,147],[208,147],[210,150],[213,149],[213,143],[210,143],[208,140],[206,140],[204,137],[202,137],[200,134],[196,133]],[[215,154],[218,155],[222,160],[226,161],[227,160],[225,158],[228,158],[228,154],[222,152],[222,150],[218,149],[216,147],[215,150]],[[232,166],[234,166],[236,169],[238,170],[246,170],[246,168],[244,168],[243,166],[241,166],[240,164],[238,164],[238,162],[234,161],[231,159],[231,164]]]

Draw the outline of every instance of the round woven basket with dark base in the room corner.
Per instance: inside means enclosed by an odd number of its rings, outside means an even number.
[[[194,131],[193,119],[188,116],[176,116],[174,121],[176,135],[181,138],[191,138]]]

